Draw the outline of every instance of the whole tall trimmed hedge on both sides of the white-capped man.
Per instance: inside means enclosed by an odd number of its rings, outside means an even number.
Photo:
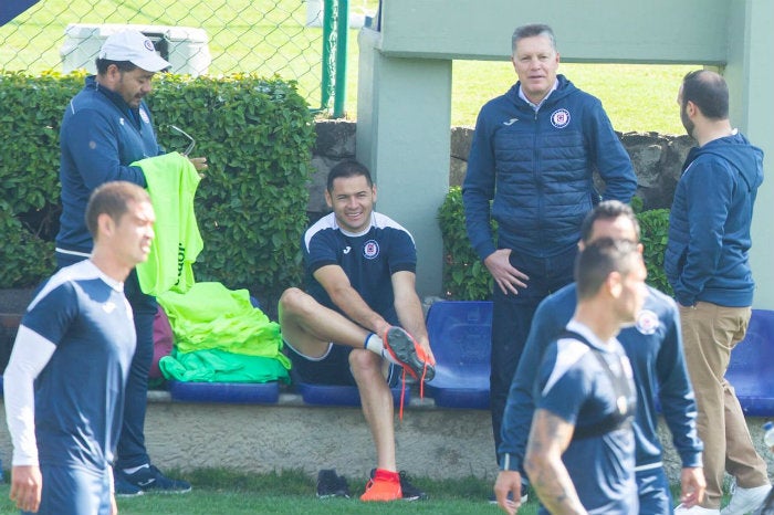
[[[83,75],[0,73],[0,287],[36,284],[53,270],[59,212],[59,128]],[[294,82],[232,75],[160,74],[147,97],[158,140],[169,150],[197,140],[207,156],[196,212],[205,240],[199,281],[275,298],[301,277],[315,140],[312,115]]]

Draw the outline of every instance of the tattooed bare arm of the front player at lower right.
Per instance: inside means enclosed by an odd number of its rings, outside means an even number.
[[[552,514],[585,514],[573,480],[562,462],[575,427],[538,409],[532,419],[524,469],[532,487]]]

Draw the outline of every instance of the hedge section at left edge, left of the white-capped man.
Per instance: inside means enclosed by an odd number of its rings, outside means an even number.
[[[59,127],[83,76],[0,74],[0,287],[36,285],[54,270]]]

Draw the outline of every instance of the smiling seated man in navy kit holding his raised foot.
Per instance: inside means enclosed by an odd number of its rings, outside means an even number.
[[[377,459],[360,500],[417,497],[397,472],[389,389],[401,368],[417,380],[435,376],[415,290],[414,239],[374,211],[376,187],[357,161],[331,169],[325,200],[333,212],[312,225],[302,242],[306,293],[289,288],[280,298],[282,336],[303,382],[356,385],[359,390]]]

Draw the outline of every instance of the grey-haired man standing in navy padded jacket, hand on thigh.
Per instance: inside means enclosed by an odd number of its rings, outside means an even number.
[[[512,50],[519,82],[481,108],[462,185],[468,237],[494,280],[495,451],[532,316],[545,296],[573,281],[580,222],[599,200],[594,169],[605,181],[606,200],[628,202],[637,188],[602,103],[556,74],[559,54],[551,28],[519,27]]]

